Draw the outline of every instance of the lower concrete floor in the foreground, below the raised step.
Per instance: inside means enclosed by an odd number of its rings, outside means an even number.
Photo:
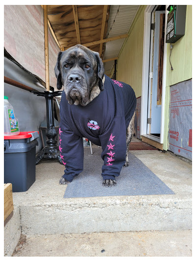
[[[22,236],[13,257],[191,257],[192,231]]]

